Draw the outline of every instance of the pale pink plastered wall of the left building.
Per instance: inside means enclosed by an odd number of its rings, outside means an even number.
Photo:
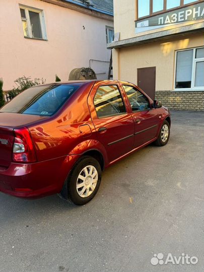
[[[47,41],[24,38],[19,4],[44,11]],[[57,74],[65,81],[72,69],[88,67],[90,59],[110,60],[105,28],[113,26],[111,20],[40,0],[1,0],[0,11],[0,78],[4,90],[24,75],[54,82]]]

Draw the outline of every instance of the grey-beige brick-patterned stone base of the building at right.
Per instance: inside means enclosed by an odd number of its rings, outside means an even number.
[[[156,91],[155,99],[169,109],[204,111],[204,91]]]

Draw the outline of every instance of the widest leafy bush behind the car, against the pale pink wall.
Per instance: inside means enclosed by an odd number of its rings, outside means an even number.
[[[16,86],[14,86],[14,88],[8,92],[10,99],[14,98],[17,94],[23,92],[30,87],[45,83],[45,80],[32,80],[31,77],[26,78],[25,76],[23,76],[22,78],[18,78],[17,80],[15,80],[14,83],[16,84]]]

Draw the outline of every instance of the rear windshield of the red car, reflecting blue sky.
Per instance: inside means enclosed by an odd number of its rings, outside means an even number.
[[[81,86],[80,83],[35,86],[12,99],[0,112],[50,116]]]

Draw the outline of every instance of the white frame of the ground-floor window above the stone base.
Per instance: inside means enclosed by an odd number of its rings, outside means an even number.
[[[204,61],[204,57],[201,58],[195,58],[196,54],[196,49],[199,48],[204,48],[203,46],[199,47],[194,47],[194,48],[186,48],[182,50],[176,50],[175,51],[175,67],[174,67],[174,86],[173,86],[173,91],[176,92],[183,92],[183,91],[204,91],[204,86],[202,87],[195,87],[195,69],[196,69],[196,63],[200,61]],[[193,61],[192,61],[192,74],[191,74],[191,88],[175,88],[176,85],[176,64],[177,64],[177,52],[180,51],[188,51],[188,50],[193,50]]]

